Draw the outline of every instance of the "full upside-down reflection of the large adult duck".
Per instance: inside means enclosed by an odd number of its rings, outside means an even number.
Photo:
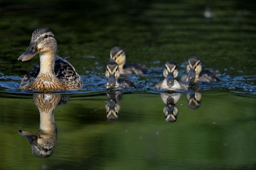
[[[36,157],[45,158],[52,155],[57,140],[54,109],[61,96],[59,94],[34,94],[33,99],[40,112],[40,130],[36,134],[20,130],[19,134],[28,139]]]

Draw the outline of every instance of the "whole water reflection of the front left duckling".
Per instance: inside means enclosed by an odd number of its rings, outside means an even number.
[[[122,99],[122,92],[108,91],[109,100],[106,101],[106,116],[108,120],[117,120],[120,111],[119,101]]]

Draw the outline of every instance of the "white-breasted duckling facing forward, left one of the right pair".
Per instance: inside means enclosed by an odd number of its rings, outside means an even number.
[[[165,79],[160,81],[156,85],[156,90],[170,90],[170,91],[179,91],[179,90],[188,90],[186,85],[175,80],[178,76],[178,69],[176,62],[168,61],[165,64],[165,69],[163,71]]]

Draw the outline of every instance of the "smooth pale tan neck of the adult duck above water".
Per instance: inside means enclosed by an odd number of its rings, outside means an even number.
[[[56,52],[45,52],[40,54],[40,74],[54,74]]]

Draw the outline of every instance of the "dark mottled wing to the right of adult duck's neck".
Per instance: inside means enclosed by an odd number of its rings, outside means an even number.
[[[61,57],[56,57],[54,73],[56,77],[62,81],[67,82],[68,84],[73,84],[77,88],[83,86],[81,77],[76,73],[74,67],[65,59]]]

